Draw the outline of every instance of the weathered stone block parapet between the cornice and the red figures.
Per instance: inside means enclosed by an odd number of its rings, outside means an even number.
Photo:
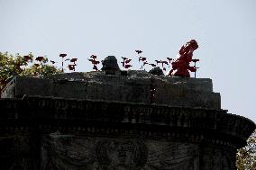
[[[17,76],[7,85],[2,98],[24,94],[221,108],[220,94],[213,92],[211,79],[154,76],[145,71],[129,71],[127,76],[104,72],[60,74],[48,79]]]

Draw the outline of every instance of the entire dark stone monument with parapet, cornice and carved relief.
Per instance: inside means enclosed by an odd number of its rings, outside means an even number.
[[[235,170],[255,130],[208,78],[105,67],[15,76],[1,96],[3,170]]]

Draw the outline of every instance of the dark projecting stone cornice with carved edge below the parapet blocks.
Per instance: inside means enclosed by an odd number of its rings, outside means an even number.
[[[26,130],[32,124],[38,124],[47,130],[62,123],[61,128],[67,130],[92,132],[94,123],[105,127],[112,127],[114,124],[122,127],[128,124],[141,127],[142,131],[138,133],[145,133],[146,136],[159,136],[158,133],[172,139],[189,139],[194,136],[195,142],[201,140],[220,145],[233,145],[235,148],[245,145],[246,139],[255,129],[255,124],[251,120],[224,110],[144,103],[33,96],[24,97],[23,100],[0,99],[0,109],[2,129],[6,126],[10,130],[15,130],[14,127],[20,130],[19,124],[22,124],[20,127]],[[63,123],[67,127],[63,127]],[[88,128],[85,129],[85,126]],[[107,129],[98,132],[104,131]],[[118,132],[118,129],[115,131]]]

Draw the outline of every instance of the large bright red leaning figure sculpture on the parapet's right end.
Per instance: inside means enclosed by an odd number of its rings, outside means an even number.
[[[183,45],[178,52],[178,58],[172,63],[172,69],[169,71],[168,76],[182,76],[190,77],[188,72],[196,72],[197,67],[190,67],[189,64],[192,61],[193,52],[198,48],[196,40],[189,40],[186,45]]]

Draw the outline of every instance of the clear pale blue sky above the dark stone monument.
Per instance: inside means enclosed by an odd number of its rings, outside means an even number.
[[[256,121],[255,0],[0,0],[0,51],[78,58],[92,70],[95,54],[174,58],[196,39],[197,77],[212,78],[222,108]],[[120,65],[121,66],[121,65]]]

